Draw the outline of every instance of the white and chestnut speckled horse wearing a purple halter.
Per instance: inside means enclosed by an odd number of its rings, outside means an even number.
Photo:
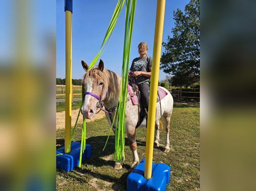
[[[118,74],[105,69],[104,62],[101,59],[97,66],[94,66],[89,70],[88,65],[83,60],[82,66],[86,73],[84,74],[82,81],[84,86],[84,102],[81,107],[81,113],[84,115],[86,119],[92,119],[97,113],[97,108],[101,108],[105,111],[105,115],[110,126],[112,125],[113,120],[115,120],[115,123],[112,127],[112,130],[115,133],[116,119],[114,119],[115,112],[113,111],[115,111],[118,108],[117,103],[119,102],[119,89],[121,77]],[[154,137],[154,147],[159,147],[159,126],[162,126],[162,123],[159,119],[160,117],[162,117],[165,123],[166,131],[165,146],[163,151],[169,152],[170,117],[173,108],[173,98],[168,90],[164,90],[166,91],[167,95],[156,104],[156,132]],[[102,102],[105,104],[105,109],[102,108]],[[125,110],[125,133],[128,138],[130,149],[133,153],[133,162],[130,165],[131,169],[134,169],[139,163],[135,128],[139,118],[138,109],[138,105],[134,105],[132,103],[132,100],[127,98]],[[145,119],[143,120],[139,127],[146,127]],[[125,158],[123,157],[121,164],[118,160],[116,160],[114,164],[114,169],[122,169],[124,160]]]

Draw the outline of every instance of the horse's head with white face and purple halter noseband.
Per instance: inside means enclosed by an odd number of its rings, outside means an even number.
[[[82,60],[82,66],[86,71],[83,78],[84,103],[81,113],[86,119],[92,119],[96,114],[96,109],[106,98],[108,83],[106,80],[104,62],[100,60],[99,65],[88,70],[88,65]]]

